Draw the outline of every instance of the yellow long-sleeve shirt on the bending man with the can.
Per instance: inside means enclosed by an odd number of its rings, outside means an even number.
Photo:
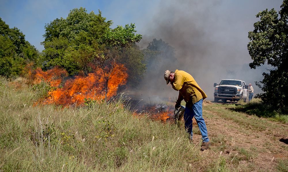
[[[184,99],[186,106],[192,107],[194,103],[200,101],[202,98],[204,100],[207,97],[194,78],[187,72],[176,70],[174,79],[175,81],[172,84],[172,87],[176,91],[179,90],[177,102],[180,103]]]

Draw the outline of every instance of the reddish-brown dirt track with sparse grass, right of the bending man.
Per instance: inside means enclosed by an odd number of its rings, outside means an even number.
[[[277,171],[281,160],[287,162],[287,124],[239,113],[231,105],[217,106],[210,101],[203,103],[203,117],[211,140],[211,149],[203,154],[212,159],[225,157],[228,166],[239,171]],[[200,132],[194,128],[193,140],[200,144]]]

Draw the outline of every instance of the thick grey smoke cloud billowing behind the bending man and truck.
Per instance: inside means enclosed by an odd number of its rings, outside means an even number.
[[[177,62],[161,59],[160,65],[148,68],[143,82],[128,94],[147,102],[161,103],[169,98],[174,102],[179,92],[166,85],[163,76],[167,69],[190,73],[208,95],[207,100],[214,100],[213,84],[219,84],[222,79],[243,80],[247,85],[252,84],[255,94],[261,92],[254,82],[262,80],[268,66],[250,69],[248,32],[259,20],[255,17],[259,11],[266,8],[279,11],[282,2],[278,8],[272,1],[265,5],[262,1],[161,2],[149,20],[139,19],[145,23],[145,26],[140,24],[139,33],[144,34],[139,45],[146,48],[153,38],[162,39],[175,48]]]

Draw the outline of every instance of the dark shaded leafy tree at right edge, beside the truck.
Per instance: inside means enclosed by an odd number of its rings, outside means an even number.
[[[273,67],[263,73],[262,81],[255,82],[264,92],[256,97],[262,98],[264,103],[272,107],[287,109],[288,0],[283,1],[279,15],[274,9],[257,13],[256,17],[260,21],[254,23],[255,29],[249,32],[251,42],[247,47],[253,59],[249,64],[251,68],[266,63]]]

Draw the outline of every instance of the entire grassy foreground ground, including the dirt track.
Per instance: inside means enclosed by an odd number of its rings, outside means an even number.
[[[20,85],[0,81],[0,171],[287,171],[287,124],[231,105],[204,101],[212,146],[200,151],[197,125],[190,144],[183,125],[132,115],[124,95],[34,107],[37,95]]]

